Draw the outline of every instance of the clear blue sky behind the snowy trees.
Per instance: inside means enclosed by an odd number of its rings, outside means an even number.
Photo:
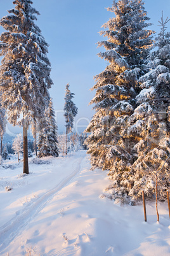
[[[105,9],[112,6],[112,0],[32,1],[41,13],[36,24],[49,44],[48,57],[54,82],[50,94],[57,111],[58,131],[65,131],[62,111],[67,83],[70,83],[70,90],[75,93],[74,103],[79,108],[76,125],[87,125],[88,119],[91,120],[94,114],[92,106],[88,106],[95,95],[89,90],[95,83],[93,76],[106,66],[105,61],[96,55],[101,50],[96,48],[96,43],[103,39],[98,32],[101,31],[101,25],[114,15]],[[7,10],[14,6],[13,0],[0,0],[0,3],[0,17],[8,15]],[[145,10],[154,24],[149,29],[159,32],[160,27],[157,25],[161,11],[164,11],[164,18],[169,15],[170,1],[146,0]],[[167,27],[170,32],[170,22]],[[0,33],[2,31],[0,27]],[[80,131],[80,127],[77,127],[77,131]]]

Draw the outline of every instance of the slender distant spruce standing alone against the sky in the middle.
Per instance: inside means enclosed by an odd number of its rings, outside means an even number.
[[[72,131],[72,127],[74,125],[74,117],[78,113],[78,108],[75,106],[75,104],[72,101],[72,98],[74,97],[74,93],[70,92],[69,89],[70,85],[67,83],[66,89],[65,89],[65,106],[63,108],[64,110],[64,117],[66,122],[66,155],[67,155],[67,137],[69,132]]]

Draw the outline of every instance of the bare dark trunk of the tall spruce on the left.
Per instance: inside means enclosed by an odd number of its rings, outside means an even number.
[[[23,127],[23,173],[29,174],[27,127]]]

